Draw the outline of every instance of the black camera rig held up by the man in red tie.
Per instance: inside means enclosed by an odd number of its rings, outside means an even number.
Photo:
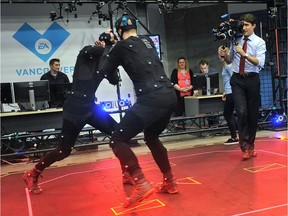
[[[235,42],[243,35],[243,24],[239,20],[222,22],[219,27],[212,29],[216,40],[230,40]]]

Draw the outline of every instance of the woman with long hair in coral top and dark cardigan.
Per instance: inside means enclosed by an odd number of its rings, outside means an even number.
[[[185,115],[184,97],[192,95],[193,72],[185,57],[177,59],[177,68],[171,73],[171,82],[177,95],[176,116]]]

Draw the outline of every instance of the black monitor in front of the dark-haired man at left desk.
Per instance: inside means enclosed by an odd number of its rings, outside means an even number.
[[[50,102],[49,107],[63,107],[67,98],[67,93],[71,91],[72,83],[50,84]]]

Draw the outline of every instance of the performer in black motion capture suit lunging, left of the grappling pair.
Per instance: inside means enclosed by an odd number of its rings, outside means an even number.
[[[40,174],[54,162],[70,155],[80,131],[86,124],[109,136],[117,125],[108,113],[95,104],[95,92],[103,80],[98,68],[103,56],[108,53],[114,43],[113,34],[104,32],[100,35],[99,41],[97,46],[85,46],[77,56],[72,90],[63,106],[59,146],[43,156],[32,170],[23,175],[23,180],[32,193],[42,192],[38,185]]]

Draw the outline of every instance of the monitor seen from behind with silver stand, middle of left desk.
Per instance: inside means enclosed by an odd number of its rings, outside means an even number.
[[[37,102],[45,102],[50,100],[50,88],[48,80],[27,81],[13,83],[15,102],[20,109],[37,110],[43,109],[42,103],[37,106]],[[25,104],[26,103],[26,104]],[[41,107],[39,107],[41,106]]]

